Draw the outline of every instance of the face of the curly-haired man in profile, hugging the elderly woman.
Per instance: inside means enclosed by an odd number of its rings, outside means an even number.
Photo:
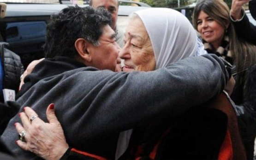
[[[103,28],[103,33],[99,39],[100,45],[90,47],[92,65],[100,70],[109,69],[115,71],[119,61],[119,45],[115,42],[115,32],[109,25]]]

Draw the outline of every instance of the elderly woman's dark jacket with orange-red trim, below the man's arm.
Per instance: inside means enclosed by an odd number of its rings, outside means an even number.
[[[120,160],[246,160],[232,103],[222,93],[188,112],[133,129]],[[88,160],[69,149],[63,160]],[[93,156],[91,156],[93,157]],[[101,158],[95,158],[101,160]]]

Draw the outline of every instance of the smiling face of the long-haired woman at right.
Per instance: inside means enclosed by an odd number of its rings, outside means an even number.
[[[211,43],[215,49],[219,47],[225,34],[225,28],[203,11],[198,15],[197,30],[202,39]]]

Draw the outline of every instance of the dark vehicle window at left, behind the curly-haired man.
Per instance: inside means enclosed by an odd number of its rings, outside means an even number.
[[[8,49],[20,56],[24,68],[32,60],[44,57],[46,21],[6,22],[5,26]]]

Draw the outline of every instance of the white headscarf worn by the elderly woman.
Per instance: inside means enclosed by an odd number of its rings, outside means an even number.
[[[136,13],[152,43],[156,69],[189,56],[204,54],[204,47],[190,21],[169,8],[149,8]]]

